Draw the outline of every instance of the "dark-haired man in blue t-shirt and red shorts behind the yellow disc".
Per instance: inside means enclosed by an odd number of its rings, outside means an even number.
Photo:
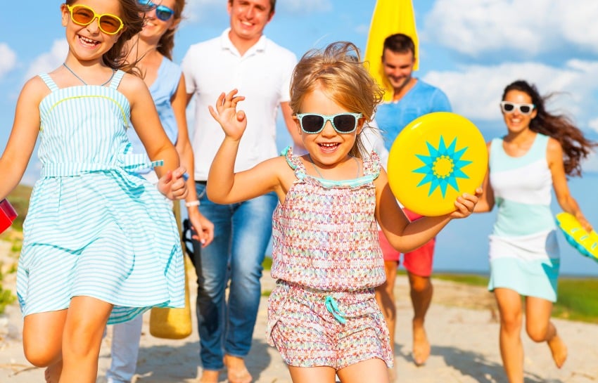
[[[443,91],[412,76],[415,64],[413,40],[405,34],[393,34],[384,41],[382,65],[386,79],[393,86],[393,99],[378,105],[376,124],[384,138],[386,149],[390,150],[395,138],[409,122],[431,112],[450,112],[450,103]],[[419,214],[404,209],[411,219]],[[388,324],[390,346],[394,351],[396,306],[393,293],[395,277],[399,266],[398,253],[379,232],[380,246],[384,254],[386,283],[376,288],[376,299]],[[426,362],[430,355],[430,343],[424,330],[424,319],[432,300],[433,286],[430,280],[435,240],[405,254],[403,266],[409,276],[409,290],[414,309],[413,316],[413,358],[417,365]]]

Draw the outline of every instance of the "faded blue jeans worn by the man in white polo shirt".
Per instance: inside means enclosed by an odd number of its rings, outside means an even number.
[[[197,273],[197,319],[204,370],[222,370],[224,353],[249,353],[262,294],[260,278],[270,236],[275,193],[246,202],[219,205],[208,200],[205,185],[196,183],[199,211],[214,223],[207,247],[193,242]],[[225,290],[229,283],[229,297]]]

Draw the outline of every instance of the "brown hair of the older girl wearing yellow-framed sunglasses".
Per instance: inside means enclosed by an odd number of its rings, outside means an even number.
[[[65,4],[72,5],[75,0],[65,0]],[[146,8],[141,6],[137,0],[119,0],[120,3],[120,18],[122,19],[122,32],[115,44],[110,50],[103,55],[104,64],[115,70],[123,70],[125,72],[139,75],[139,70],[136,68],[136,61],[134,63],[127,63],[127,52],[125,52],[125,44],[129,39],[141,32],[144,28],[144,12]]]

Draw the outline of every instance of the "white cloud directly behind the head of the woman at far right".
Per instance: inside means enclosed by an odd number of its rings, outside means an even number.
[[[507,84],[525,79],[541,94],[559,93],[549,110],[571,115],[581,129],[598,125],[594,93],[598,92],[598,61],[570,60],[564,67],[542,63],[504,63],[493,66],[465,65],[457,71],[428,72],[424,81],[447,93],[454,112],[472,119],[501,119],[498,103]]]

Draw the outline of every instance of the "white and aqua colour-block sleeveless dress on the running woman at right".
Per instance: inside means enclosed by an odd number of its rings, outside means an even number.
[[[537,134],[522,157],[507,155],[502,138],[490,145],[490,184],[498,207],[490,235],[490,291],[506,287],[524,296],[556,301],[560,257],[550,210],[548,139]]]

